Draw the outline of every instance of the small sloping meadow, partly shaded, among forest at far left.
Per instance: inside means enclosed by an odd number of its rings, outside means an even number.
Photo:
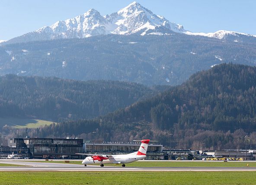
[[[38,128],[51,124],[52,121],[38,120],[38,119],[25,119],[25,118],[0,118],[0,126],[5,125],[13,126],[14,128]]]

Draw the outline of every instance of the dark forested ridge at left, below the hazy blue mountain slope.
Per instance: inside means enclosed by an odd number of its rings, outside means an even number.
[[[150,89],[128,82],[84,82],[10,74],[0,77],[0,117],[88,119],[124,108],[162,88],[168,87]]]

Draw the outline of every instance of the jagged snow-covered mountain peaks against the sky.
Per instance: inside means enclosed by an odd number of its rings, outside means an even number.
[[[234,31],[220,30],[214,33],[193,33],[184,30],[182,25],[168,21],[163,16],[156,15],[149,9],[133,2],[118,12],[110,15],[100,15],[95,9],[65,21],[58,21],[51,26],[39,28],[20,37],[8,40],[6,43],[21,43],[36,40],[52,40],[60,38],[84,38],[102,34],[171,34],[173,32],[195,36],[214,37],[242,42],[244,37],[256,35],[243,34]],[[238,38],[238,39],[237,39]],[[241,39],[243,38],[243,39]]]

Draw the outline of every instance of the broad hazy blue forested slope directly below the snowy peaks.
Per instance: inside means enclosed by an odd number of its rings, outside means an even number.
[[[0,46],[0,75],[119,80],[148,86],[178,85],[197,71],[228,62],[256,65],[254,40],[234,42],[232,38],[173,33],[103,35]]]

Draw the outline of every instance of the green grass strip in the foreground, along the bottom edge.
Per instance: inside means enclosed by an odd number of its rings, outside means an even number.
[[[1,185],[255,185],[256,172],[0,172]]]

